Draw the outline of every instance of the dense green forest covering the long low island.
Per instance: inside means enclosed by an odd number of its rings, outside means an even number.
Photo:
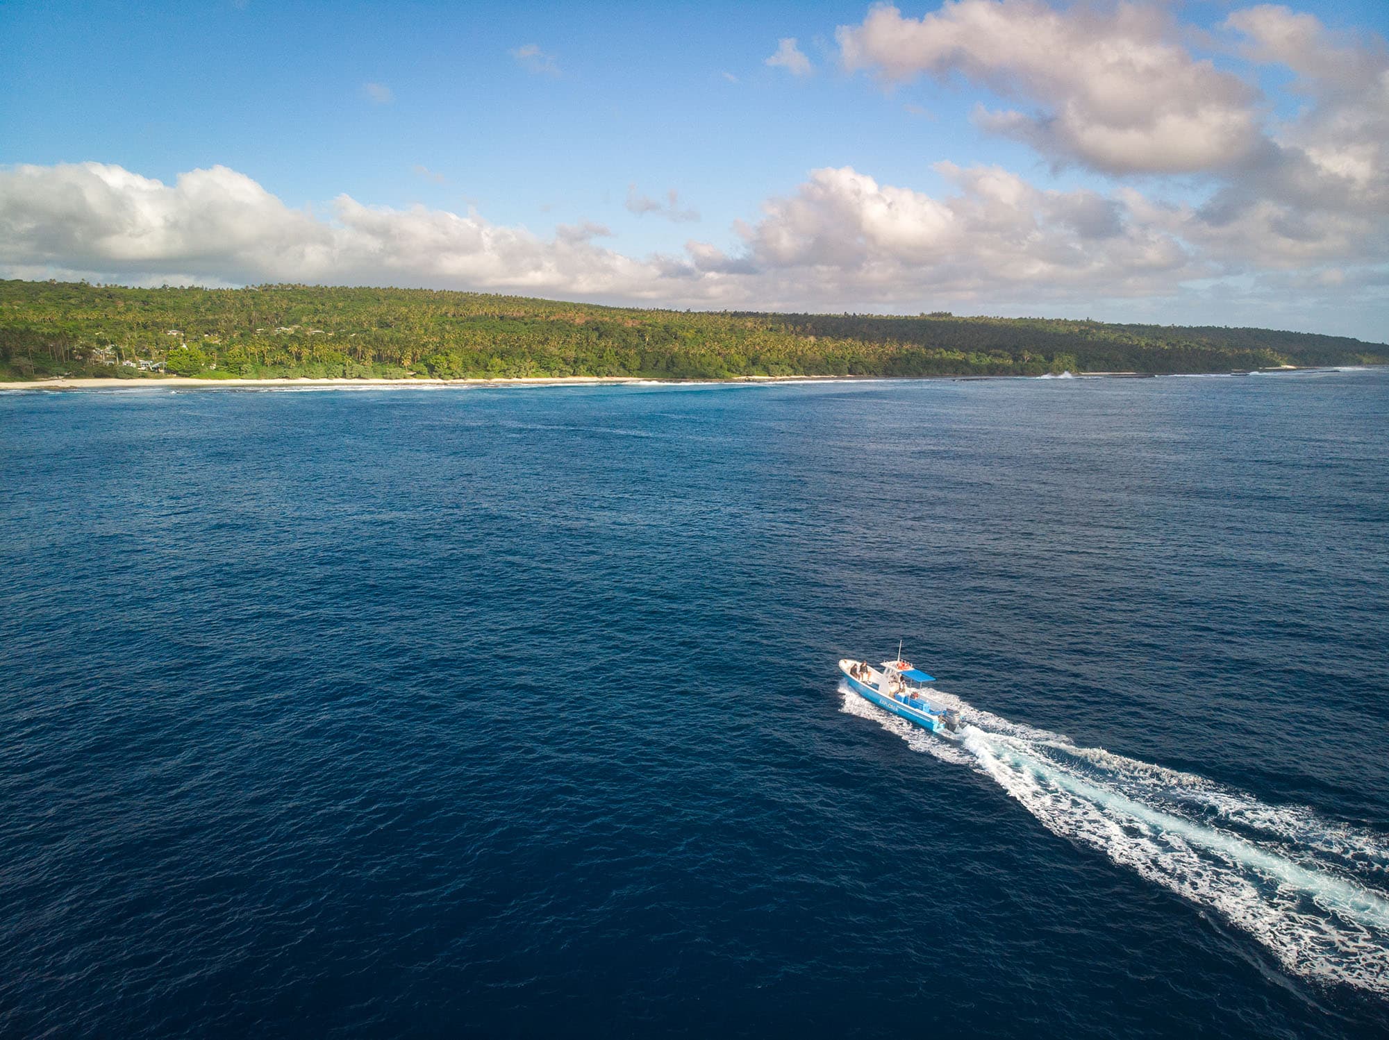
[[[1265,329],[596,307],[424,289],[0,282],[0,378],[1040,375],[1389,364]]]

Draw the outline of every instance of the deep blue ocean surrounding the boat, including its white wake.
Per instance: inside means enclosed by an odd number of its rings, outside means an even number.
[[[1389,372],[0,394],[0,1033],[1382,1036],[1386,460]]]

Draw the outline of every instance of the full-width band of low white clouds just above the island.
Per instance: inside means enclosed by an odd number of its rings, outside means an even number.
[[[1386,297],[1382,221],[1297,224],[1275,204],[1220,215],[1132,189],[1046,190],[997,167],[936,169],[951,186],[939,196],[849,167],[817,169],[740,225],[736,249],[688,242],[676,254],[638,258],[601,244],[610,230],[596,224],[542,236],[474,211],[372,207],[349,196],[317,215],[225,167],[165,185],[117,165],[21,165],[0,169],[0,276],[413,285],[768,310],[1074,315],[1126,300],[1110,314],[1164,321],[1190,317],[1189,285],[1200,279],[1235,294],[1215,312],[1250,324],[1267,321],[1260,308],[1286,307],[1290,285],[1304,286],[1297,299],[1321,301],[1324,321],[1343,321],[1347,300],[1367,314]],[[640,208],[644,196],[631,199]],[[646,201],[678,208],[669,196]]]

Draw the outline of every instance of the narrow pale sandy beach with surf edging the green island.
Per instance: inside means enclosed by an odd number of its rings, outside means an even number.
[[[144,379],[113,379],[79,376],[68,379],[54,376],[50,379],[26,379],[14,382],[0,382],[0,390],[146,390],[158,387],[176,387],[183,390],[254,390],[254,389],[325,389],[325,390],[382,390],[382,389],[449,389],[449,387],[535,387],[535,386],[653,386],[653,385],[693,385],[693,383],[824,383],[845,380],[872,380],[872,379],[1153,379],[1158,375],[1253,375],[1254,372],[1310,372],[1310,371],[1339,371],[1336,365],[1281,365],[1278,368],[1238,369],[1229,372],[1075,372],[1067,376],[1018,376],[1018,375],[740,375],[728,379],[660,379],[654,376],[599,376],[599,375],[571,375],[571,376],[513,376],[499,379],[347,379],[324,378],[267,378],[267,379],[200,379],[197,376],[157,376]],[[1360,365],[1357,365],[1360,368]]]

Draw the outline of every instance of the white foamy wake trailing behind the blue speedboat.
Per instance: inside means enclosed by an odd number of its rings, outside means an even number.
[[[1047,830],[1095,848],[1242,929],[1289,971],[1389,996],[1389,844],[1193,773],[1078,747],[939,690],[958,743],[840,685],[843,710],[989,776]]]

